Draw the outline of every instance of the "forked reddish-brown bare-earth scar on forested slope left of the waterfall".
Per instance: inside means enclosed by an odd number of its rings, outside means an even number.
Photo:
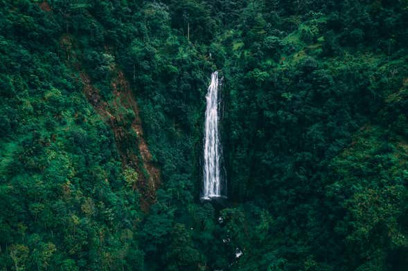
[[[141,193],[141,208],[147,212],[156,200],[156,190],[160,184],[160,171],[152,161],[152,154],[143,136],[139,106],[134,92],[117,64],[109,64],[110,93],[105,100],[100,90],[92,84],[85,65],[82,62],[82,51],[73,35],[62,35],[60,46],[65,55],[66,64],[79,74],[83,93],[100,118],[112,129],[116,149],[121,157],[123,169],[131,168],[137,172],[133,189]],[[107,46],[105,50],[108,51]],[[111,50],[109,50],[111,51]],[[107,53],[108,54],[108,53]]]

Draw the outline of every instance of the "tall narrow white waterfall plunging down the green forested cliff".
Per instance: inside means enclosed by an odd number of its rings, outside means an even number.
[[[218,134],[220,93],[218,71],[211,74],[211,84],[206,95],[206,120],[204,136],[204,199],[226,196],[226,184],[221,174],[222,147]]]

